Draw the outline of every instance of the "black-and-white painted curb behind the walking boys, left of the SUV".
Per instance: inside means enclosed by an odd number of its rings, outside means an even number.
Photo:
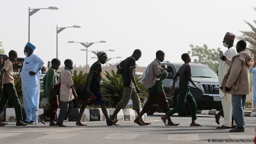
[[[43,114],[47,109],[39,109],[38,115]],[[76,121],[79,115],[80,109],[72,109],[71,113],[68,116],[67,121]],[[107,109],[109,117],[114,113],[114,109]],[[60,109],[57,110],[57,116],[59,115]],[[138,117],[135,110],[124,109],[120,110],[115,119],[118,121],[133,121]],[[22,118],[26,119],[25,110],[22,109]],[[142,117],[143,120],[147,120],[147,114],[144,114]],[[38,119],[39,120],[39,119]],[[45,117],[45,121],[49,121],[49,117]],[[0,114],[0,121],[15,122],[15,110],[14,108],[6,108],[3,113]],[[82,121],[106,121],[105,116],[102,113],[101,109],[85,109],[82,117]]]

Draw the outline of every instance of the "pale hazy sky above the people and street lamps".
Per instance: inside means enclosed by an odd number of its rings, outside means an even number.
[[[189,45],[207,44],[221,47],[226,31],[241,35],[249,30],[244,20],[256,19],[255,0],[1,0],[0,41],[8,53],[13,49],[25,57],[28,41],[28,9],[58,7],[59,10],[40,10],[30,17],[30,42],[34,51],[47,61],[56,57],[56,24],[59,27],[79,25],[59,33],[59,59],[69,58],[78,65],[86,64],[86,52],[77,42],[94,43],[89,50],[114,49],[109,57],[131,56],[134,49],[142,50],[137,62],[146,66],[163,50],[166,60],[182,61]],[[237,40],[235,41],[237,42]],[[95,55],[88,52],[91,65]],[[110,60],[110,63],[119,61]]]

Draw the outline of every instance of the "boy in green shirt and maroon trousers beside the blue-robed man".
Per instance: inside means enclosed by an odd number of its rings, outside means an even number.
[[[51,92],[54,88],[54,86],[57,84],[57,75],[54,71],[58,70],[60,67],[60,60],[57,58],[52,59],[52,67],[49,68],[47,71],[46,75],[43,78],[44,81],[44,91],[45,91],[45,96],[49,98],[49,103],[50,107],[48,110],[45,111],[45,113],[38,115],[40,121],[45,124],[44,118],[45,116],[49,117],[50,116],[50,126],[57,126],[54,121],[57,120],[57,109],[59,107],[59,99],[58,95],[52,95]]]

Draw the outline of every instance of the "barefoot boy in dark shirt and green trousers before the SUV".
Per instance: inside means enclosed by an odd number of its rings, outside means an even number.
[[[197,117],[196,117],[196,111],[197,111],[196,101],[195,101],[193,95],[190,93],[189,86],[188,86],[189,82],[191,82],[200,93],[202,92],[202,90],[199,87],[197,87],[196,84],[191,79],[191,68],[189,66],[189,62],[191,62],[191,57],[189,56],[189,54],[188,53],[182,54],[181,59],[185,62],[185,64],[183,64],[180,67],[180,69],[178,70],[176,75],[173,77],[173,88],[171,91],[171,96],[173,96],[176,79],[177,79],[177,77],[180,77],[178,105],[174,109],[169,110],[166,113],[166,115],[161,118],[163,120],[163,123],[166,126],[177,126],[177,124],[174,124],[173,122],[172,122],[172,124],[167,125],[166,120],[168,117],[170,117],[171,115],[177,113],[179,110],[182,109],[185,99],[186,99],[188,101],[189,105],[191,106],[192,122],[191,122],[190,126],[201,126],[195,122],[195,120],[197,119]]]

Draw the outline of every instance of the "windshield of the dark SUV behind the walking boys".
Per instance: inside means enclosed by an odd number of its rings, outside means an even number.
[[[181,66],[182,65],[176,65],[177,70],[180,69]],[[205,65],[190,65],[190,67],[191,77],[218,78],[217,74]]]

